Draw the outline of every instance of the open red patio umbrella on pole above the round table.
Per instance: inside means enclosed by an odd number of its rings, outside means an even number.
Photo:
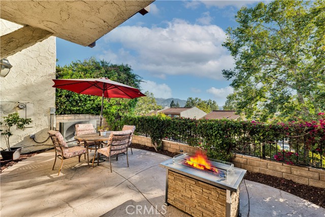
[[[126,98],[134,99],[146,95],[132,86],[128,86],[108,78],[85,78],[85,79],[53,79],[53,87],[71,90],[78,94],[102,96],[101,122],[103,119],[103,105],[105,98]]]

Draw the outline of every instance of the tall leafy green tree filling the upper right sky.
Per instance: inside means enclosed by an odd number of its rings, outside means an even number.
[[[236,61],[223,70],[247,118],[312,117],[325,109],[325,2],[276,0],[243,7],[223,46]],[[235,100],[236,99],[236,100]]]

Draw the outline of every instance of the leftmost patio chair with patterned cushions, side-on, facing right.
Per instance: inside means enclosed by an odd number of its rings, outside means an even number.
[[[82,154],[87,154],[88,167],[89,167],[89,156],[88,156],[87,148],[81,147],[79,145],[69,147],[67,142],[64,141],[64,138],[63,138],[62,134],[60,132],[58,132],[58,131],[50,130],[48,132],[48,134],[51,137],[51,140],[52,140],[53,145],[54,145],[54,150],[55,150],[55,159],[54,159],[54,164],[53,164],[52,170],[54,170],[56,158],[61,159],[61,161],[62,161],[59,172],[58,172],[57,175],[60,174],[60,171],[61,171],[62,166],[63,166],[63,160],[64,159],[73,158],[73,157],[78,156],[79,157],[79,162],[80,162],[80,157],[81,157]]]

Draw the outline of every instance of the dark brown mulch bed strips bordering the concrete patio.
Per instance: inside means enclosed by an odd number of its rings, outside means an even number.
[[[148,147],[148,146],[144,146],[144,145],[140,145],[140,144],[136,144],[136,143],[132,144],[132,147],[156,152],[153,147]],[[43,151],[46,151],[46,150],[43,150]],[[17,160],[14,160],[14,161],[3,161],[2,159],[0,159],[1,172],[3,171],[3,169],[11,167],[12,165],[18,163],[19,161],[27,159],[27,158],[34,156],[35,154],[41,153],[43,151],[37,151],[37,152],[33,152],[33,153],[28,153],[28,154],[21,154],[20,158]],[[179,154],[177,152],[170,152],[167,150],[161,150],[161,151],[158,151],[158,153],[164,154],[169,157],[174,157],[177,154]],[[245,179],[269,185],[273,188],[276,188],[276,189],[288,192],[290,194],[296,195],[302,199],[305,199],[305,200],[310,201],[320,207],[325,208],[325,189],[311,187],[309,185],[300,184],[300,183],[297,183],[297,182],[294,182],[291,180],[287,180],[284,178],[278,178],[278,177],[267,175],[267,174],[253,173],[253,172],[248,172],[248,171],[246,173]]]

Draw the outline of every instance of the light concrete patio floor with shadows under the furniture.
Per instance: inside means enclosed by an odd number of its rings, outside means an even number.
[[[108,161],[88,168],[83,157],[81,163],[72,158],[64,160],[57,176],[60,162],[52,170],[54,150],[37,154],[0,175],[1,216],[188,216],[164,206],[166,171],[158,165],[168,159],[133,149],[129,168],[126,156],[120,156],[118,162],[113,158],[110,173]],[[251,217],[325,216],[325,209],[299,197],[264,184],[245,183],[240,185],[242,217],[248,212]]]

